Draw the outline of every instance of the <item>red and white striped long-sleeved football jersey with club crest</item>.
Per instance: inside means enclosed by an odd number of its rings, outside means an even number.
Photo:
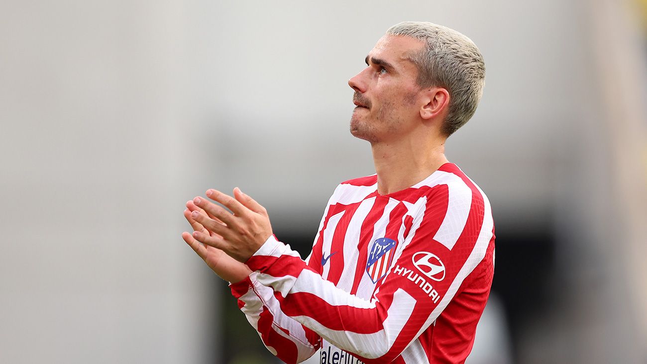
[[[306,261],[272,236],[247,265],[232,293],[286,363],[462,363],[494,273],[490,203],[450,163],[389,195],[349,180]]]

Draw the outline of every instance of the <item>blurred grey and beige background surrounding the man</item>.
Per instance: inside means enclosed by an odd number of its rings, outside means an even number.
[[[347,80],[404,20],[485,57],[446,147],[496,224],[467,363],[647,363],[646,9],[1,2],[0,363],[276,363],[182,241],[184,203],[239,186],[305,257],[336,184],[374,173]]]

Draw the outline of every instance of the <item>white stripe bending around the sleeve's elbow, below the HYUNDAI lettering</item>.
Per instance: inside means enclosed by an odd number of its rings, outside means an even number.
[[[342,294],[342,292],[338,292],[338,294]],[[350,295],[347,292],[343,292],[343,294]],[[393,302],[396,301],[398,305],[391,305],[386,312],[386,319],[384,319],[383,323],[384,328],[373,334],[356,334],[346,330],[331,330],[308,316],[294,316],[294,319],[312,328],[324,339],[342,350],[355,352],[367,359],[375,359],[389,352],[397,337],[400,336],[400,332],[402,332],[402,328],[411,316],[411,312],[413,312],[415,299],[402,288],[398,288],[393,294]]]

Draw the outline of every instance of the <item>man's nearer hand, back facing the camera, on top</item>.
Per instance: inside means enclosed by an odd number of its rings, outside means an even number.
[[[206,214],[192,211],[191,217],[208,231],[194,231],[193,237],[223,250],[239,262],[247,261],[272,235],[267,210],[238,187],[234,189],[234,197],[215,189],[209,189],[206,195],[231,212],[206,198],[193,198],[193,203]]]

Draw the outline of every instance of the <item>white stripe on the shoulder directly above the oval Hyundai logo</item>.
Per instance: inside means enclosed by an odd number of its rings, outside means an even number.
[[[472,189],[454,173],[441,172],[435,180],[438,184],[446,184],[449,192],[447,213],[433,240],[440,242],[452,250],[463,233],[467,217],[472,206]]]

